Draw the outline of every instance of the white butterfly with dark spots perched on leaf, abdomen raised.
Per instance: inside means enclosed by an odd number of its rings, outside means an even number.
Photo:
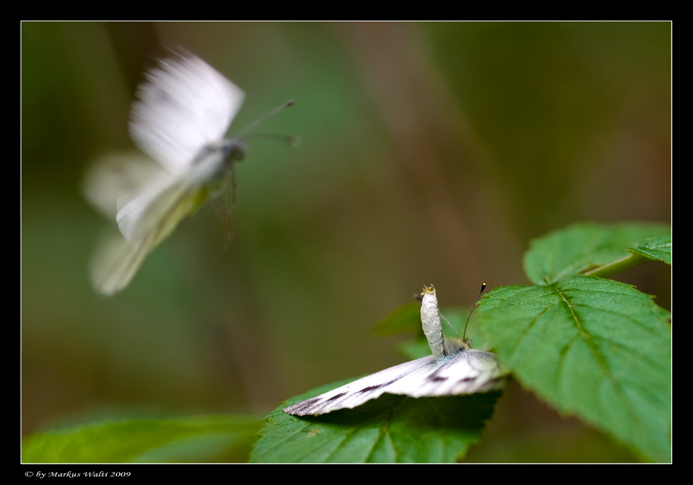
[[[421,324],[433,355],[376,372],[283,411],[295,416],[326,414],[360,406],[386,392],[421,398],[500,389],[505,373],[495,355],[470,349],[462,340],[446,339],[435,288],[424,287],[421,294]]]

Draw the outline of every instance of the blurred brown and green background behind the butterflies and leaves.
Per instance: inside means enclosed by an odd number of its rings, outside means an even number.
[[[671,24],[21,24],[22,432],[97,416],[256,413],[402,361],[369,331],[424,284],[441,306],[528,283],[529,239],[671,218]],[[109,221],[85,170],[134,150],[128,112],[161,46],[247,98],[238,132],[296,105],[238,165],[234,238],[204,206],[99,297]],[[669,270],[617,276],[669,308]],[[595,444],[596,443],[596,444]],[[513,383],[471,461],[626,461]]]

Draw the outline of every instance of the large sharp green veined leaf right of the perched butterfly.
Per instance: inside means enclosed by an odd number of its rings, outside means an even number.
[[[525,387],[651,461],[671,460],[669,312],[633,286],[573,276],[495,288],[478,331]]]

